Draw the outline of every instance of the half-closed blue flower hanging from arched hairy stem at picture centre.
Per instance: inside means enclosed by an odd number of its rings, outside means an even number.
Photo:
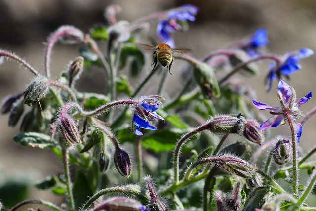
[[[140,128],[157,130],[157,128],[151,125],[148,121],[157,122],[159,119],[164,121],[164,119],[155,112],[158,108],[158,104],[141,102],[139,107],[135,109],[135,114],[132,122],[132,129],[136,135],[143,135],[143,133],[139,130]],[[135,131],[134,125],[136,125]]]

